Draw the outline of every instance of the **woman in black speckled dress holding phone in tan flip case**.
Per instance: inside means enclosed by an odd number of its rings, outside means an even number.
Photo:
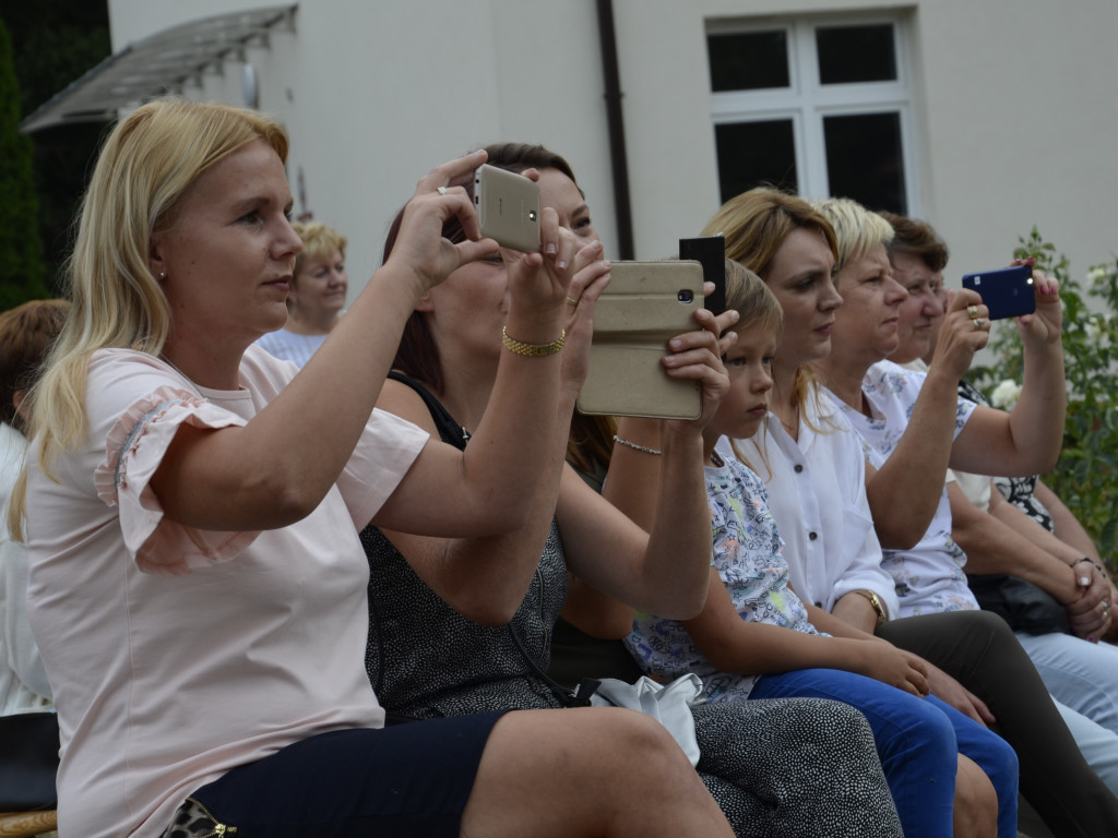
[[[580,193],[569,166],[556,160],[543,169],[543,202],[553,202],[560,221],[578,232],[580,208],[560,204]],[[500,155],[491,162],[502,164]],[[510,168],[520,166],[513,161]],[[556,173],[571,189],[555,189],[566,185]],[[454,227],[444,229],[452,241],[461,235]],[[694,607],[692,583],[700,577],[705,583],[710,524],[698,451],[724,379],[709,313],[700,315],[703,330],[671,346],[670,374],[703,382],[704,410],[697,422],[666,423],[662,514],[653,532],[632,524],[563,463],[566,426],[585,375],[589,310],[608,273],[596,237],[587,238],[569,299],[567,407],[549,430],[553,463],[540,475],[525,526],[454,540],[373,527],[361,535],[371,566],[369,676],[399,717],[568,706],[569,694],[544,672],[569,569],[634,604],[660,602],[676,612]],[[386,255],[392,244],[390,231]],[[504,282],[500,261],[474,266],[420,302],[395,364],[407,381],[389,381],[380,407],[449,445],[466,445],[506,351]],[[430,514],[439,515],[437,497]],[[700,705],[694,720],[698,771],[738,835],[900,836],[869,727],[850,707],[815,699]]]

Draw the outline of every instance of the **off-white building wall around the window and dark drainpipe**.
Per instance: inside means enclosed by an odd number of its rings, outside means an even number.
[[[110,0],[114,49],[231,7]],[[707,20],[868,10],[910,21],[917,197],[951,247],[949,278],[1003,264],[1034,223],[1077,272],[1111,258],[1114,0],[614,0],[637,258],[671,254],[718,208]],[[616,254],[594,0],[303,0],[294,34],[247,58],[260,108],[291,131],[296,212],[350,237],[351,294],[415,181],[498,140],[567,156]],[[241,104],[239,63],[187,93]]]

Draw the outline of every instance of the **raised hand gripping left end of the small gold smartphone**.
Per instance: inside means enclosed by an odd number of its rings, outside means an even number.
[[[473,172],[485,158],[485,151],[481,150],[435,166],[419,180],[415,194],[404,208],[388,264],[410,270],[418,280],[420,295],[462,265],[492,256],[498,250],[493,239],[482,238],[466,190],[449,185],[455,179]],[[466,240],[458,244],[443,237],[443,225],[455,216],[466,235]]]

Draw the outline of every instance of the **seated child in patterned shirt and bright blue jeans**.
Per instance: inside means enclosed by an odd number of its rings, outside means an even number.
[[[993,835],[995,820],[1001,838],[1015,836],[1013,749],[930,696],[927,669],[918,657],[800,601],[788,584],[783,542],[764,483],[742,461],[716,450],[722,436],[750,437],[764,420],[781,323],[780,305],[771,292],[736,263],[728,264],[727,303],[740,314],[735,327],[738,340],[724,360],[730,393],[703,430],[713,533],[707,603],[691,620],[638,612],[626,640],[629,650],[657,678],[695,673],[716,704],[800,696],[858,707],[873,730],[909,838]],[[623,421],[619,435],[629,434],[629,428],[634,434],[652,430],[647,423]],[[616,448],[614,457],[644,458],[650,473],[657,468],[653,455],[657,439],[642,436],[628,441],[633,445]],[[652,479],[642,484],[655,485]],[[980,790],[986,778],[993,784],[997,803],[995,808],[987,802],[985,818],[956,808],[957,772],[959,785],[969,787],[966,790]]]

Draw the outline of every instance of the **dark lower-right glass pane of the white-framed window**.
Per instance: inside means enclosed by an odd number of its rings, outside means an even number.
[[[908,212],[899,113],[827,116],[823,137],[832,196],[871,210]]]

